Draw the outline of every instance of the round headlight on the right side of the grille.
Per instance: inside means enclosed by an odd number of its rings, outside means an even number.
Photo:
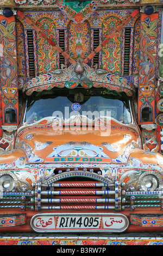
[[[146,175],[141,179],[141,188],[144,191],[153,191],[158,187],[158,179],[154,175]]]

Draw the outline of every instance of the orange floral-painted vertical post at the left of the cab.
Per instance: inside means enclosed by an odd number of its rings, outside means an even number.
[[[15,17],[0,18],[0,79],[2,87],[3,124],[8,124],[5,118],[8,108],[14,109],[18,123],[18,81],[16,57],[16,25]]]

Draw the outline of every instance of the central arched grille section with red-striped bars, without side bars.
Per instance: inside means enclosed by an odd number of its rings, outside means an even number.
[[[120,210],[121,186],[100,174],[77,170],[57,174],[39,182],[36,210]],[[70,178],[77,180],[67,181]],[[85,178],[85,181],[81,181]]]

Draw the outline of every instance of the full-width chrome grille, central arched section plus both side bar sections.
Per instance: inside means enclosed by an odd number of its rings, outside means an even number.
[[[39,179],[31,192],[0,191],[0,209],[115,210],[163,209],[163,191],[125,191],[125,184],[97,170],[55,170]],[[27,188],[24,187],[24,190]]]

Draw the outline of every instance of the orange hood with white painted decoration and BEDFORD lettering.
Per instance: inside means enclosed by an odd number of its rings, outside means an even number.
[[[141,147],[135,125],[111,121],[110,129],[53,130],[45,127],[23,127],[17,135],[17,148],[23,149],[29,163],[108,162],[126,163],[131,151]]]

